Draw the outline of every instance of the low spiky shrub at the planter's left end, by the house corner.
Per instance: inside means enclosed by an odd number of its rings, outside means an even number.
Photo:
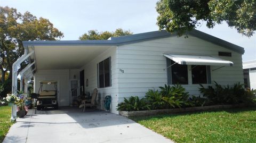
[[[142,111],[150,110],[145,98],[139,98],[138,96],[131,96],[129,99],[124,98],[124,102],[117,105],[118,111]]]

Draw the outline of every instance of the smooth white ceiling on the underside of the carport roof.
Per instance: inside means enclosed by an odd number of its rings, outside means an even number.
[[[37,70],[79,69],[111,46],[35,46]]]

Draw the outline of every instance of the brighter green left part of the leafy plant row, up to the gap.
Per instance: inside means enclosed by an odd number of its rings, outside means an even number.
[[[188,92],[180,85],[173,87],[165,85],[159,87],[161,90],[149,89],[145,98],[139,99],[138,96],[124,98],[124,102],[117,105],[118,111],[141,111],[141,110],[158,110],[175,107],[191,106],[188,100]]]

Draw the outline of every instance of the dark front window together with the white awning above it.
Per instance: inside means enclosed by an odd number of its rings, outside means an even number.
[[[213,56],[165,54],[168,84],[188,84],[188,65],[192,84],[211,83],[210,65],[233,66],[233,62]],[[220,68],[221,68],[220,67]],[[217,68],[219,69],[219,68]]]

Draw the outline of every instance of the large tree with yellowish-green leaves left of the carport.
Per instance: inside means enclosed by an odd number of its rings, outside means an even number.
[[[16,9],[0,6],[0,70],[1,81],[4,83],[7,71],[12,78],[12,64],[24,53],[22,41],[27,40],[57,40],[63,33],[44,18],[25,12],[21,14]],[[20,65],[25,68],[27,62]]]

